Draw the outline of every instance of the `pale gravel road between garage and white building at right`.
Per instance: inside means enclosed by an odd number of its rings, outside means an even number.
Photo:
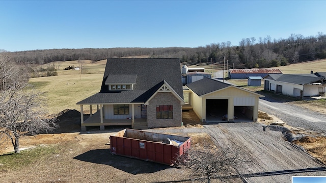
[[[290,126],[304,128],[326,135],[325,114],[281,102],[277,98],[271,98],[270,96],[259,99],[259,110],[280,118]]]

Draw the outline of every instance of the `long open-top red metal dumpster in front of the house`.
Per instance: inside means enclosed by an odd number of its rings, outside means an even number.
[[[123,129],[110,136],[111,153],[173,165],[190,148],[190,137]]]

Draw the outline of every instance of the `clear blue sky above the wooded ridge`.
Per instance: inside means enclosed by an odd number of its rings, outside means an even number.
[[[326,1],[4,1],[0,49],[198,47],[326,34]]]

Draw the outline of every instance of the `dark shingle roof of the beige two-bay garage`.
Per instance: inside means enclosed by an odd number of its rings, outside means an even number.
[[[209,78],[204,78],[202,80],[198,80],[194,83],[189,83],[186,85],[189,89],[191,89],[193,92],[195,92],[198,96],[205,95],[207,93],[216,91],[216,90],[221,90],[223,88],[229,87],[231,85],[209,79]]]

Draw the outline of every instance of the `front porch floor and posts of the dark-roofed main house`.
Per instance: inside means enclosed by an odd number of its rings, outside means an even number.
[[[105,119],[103,115],[103,105],[97,105],[97,111],[92,114],[90,105],[90,116],[84,121],[83,105],[80,106],[80,117],[82,131],[86,131],[87,126],[99,126],[103,130],[105,126],[131,126],[133,129],[147,129],[147,118],[127,118],[127,119]]]

